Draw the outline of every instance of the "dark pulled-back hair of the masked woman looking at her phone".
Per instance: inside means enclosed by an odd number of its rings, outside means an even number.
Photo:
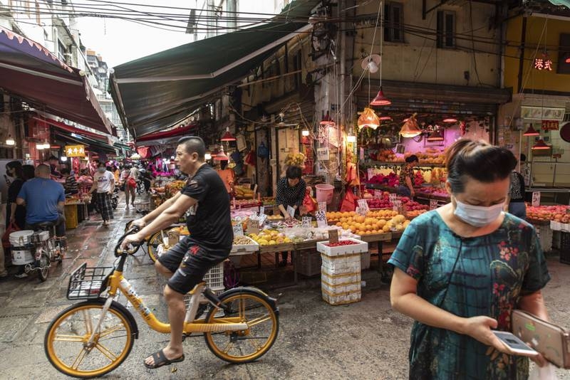
[[[451,191],[462,193],[469,178],[485,183],[506,179],[517,166],[517,159],[509,149],[460,139],[447,149],[445,166]]]

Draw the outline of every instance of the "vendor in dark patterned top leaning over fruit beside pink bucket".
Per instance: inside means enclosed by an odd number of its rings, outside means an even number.
[[[291,166],[288,167],[285,176],[279,179],[277,182],[277,194],[276,194],[276,204],[279,206],[279,210],[286,219],[294,218],[295,214],[299,213],[299,207],[303,204],[303,199],[305,198],[306,184],[301,175],[303,172],[300,167]],[[294,214],[290,215],[287,212],[287,206],[291,206],[294,209]],[[283,260],[281,260],[281,266],[287,265],[287,257],[289,253],[281,253],[283,255]]]

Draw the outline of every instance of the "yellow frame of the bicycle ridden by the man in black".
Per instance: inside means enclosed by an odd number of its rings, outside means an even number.
[[[192,297],[197,300],[199,297],[202,288],[204,287],[205,283],[201,283],[196,285],[196,287],[190,292]],[[142,317],[145,322],[147,322],[148,326],[157,331],[162,332],[164,334],[170,333],[170,324],[160,322],[160,320],[155,317],[152,311],[145,306],[145,303],[142,301],[142,298],[139,297],[137,292],[132,285],[128,282],[126,278],[123,277],[123,272],[119,270],[115,270],[112,275],[109,277],[109,290],[108,293],[110,297],[115,297],[117,295],[117,290],[127,297],[130,303],[135,307],[135,309],[139,312],[140,316]],[[193,321],[186,321],[184,322],[184,332],[185,334],[190,334],[192,332],[225,332],[225,331],[241,331],[248,329],[247,323],[242,322],[242,319],[239,317],[224,317],[224,318],[214,318],[214,322],[206,323],[204,320],[193,320]]]

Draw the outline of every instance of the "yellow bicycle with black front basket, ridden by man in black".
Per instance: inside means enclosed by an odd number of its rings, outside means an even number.
[[[68,299],[85,300],[63,310],[49,325],[44,349],[51,364],[77,378],[103,376],[120,366],[138,339],[135,318],[115,301],[123,293],[142,319],[156,332],[170,333],[170,324],[157,320],[133,286],[123,277],[128,255],[120,250],[114,267],[88,268],[84,263],[71,275]],[[103,292],[106,296],[102,296]],[[276,300],[256,287],[236,287],[214,294],[200,283],[185,297],[184,336],[202,333],[209,350],[230,363],[248,363],[263,356],[279,333]],[[205,316],[204,316],[205,315]]]

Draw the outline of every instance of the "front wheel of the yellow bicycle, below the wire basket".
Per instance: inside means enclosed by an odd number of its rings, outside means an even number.
[[[128,317],[111,305],[99,323],[103,299],[80,302],[63,310],[49,325],[43,348],[51,364],[63,374],[82,379],[102,376],[120,366],[133,348]]]

